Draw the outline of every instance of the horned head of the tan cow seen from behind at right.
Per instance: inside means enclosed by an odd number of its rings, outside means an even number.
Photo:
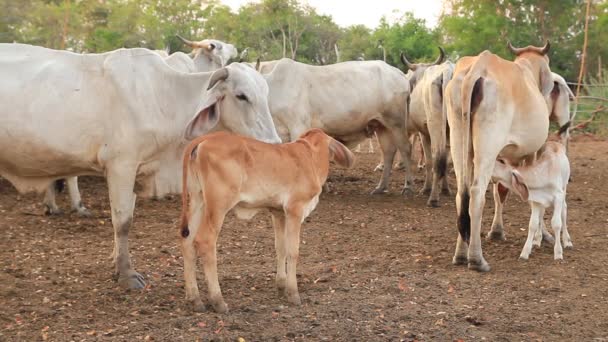
[[[540,92],[545,97],[549,96],[553,90],[553,75],[549,68],[549,56],[547,55],[551,48],[549,41],[547,40],[543,47],[528,45],[525,48],[516,48],[511,45],[511,42],[507,43],[507,47],[515,54],[515,62],[526,61],[527,67],[537,80]]]

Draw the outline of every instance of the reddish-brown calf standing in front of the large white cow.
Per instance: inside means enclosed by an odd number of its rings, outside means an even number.
[[[319,202],[329,161],[351,167],[352,153],[320,129],[298,140],[272,145],[227,132],[200,137],[184,152],[181,246],[186,299],[204,310],[196,283],[196,255],[202,257],[208,299],[226,312],[217,277],[216,242],[224,217],[252,218],[269,209],[275,230],[279,295],[300,304],[296,263],[300,226]],[[287,267],[286,267],[287,265]]]

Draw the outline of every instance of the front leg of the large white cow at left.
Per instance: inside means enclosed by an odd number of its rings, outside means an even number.
[[[114,226],[114,265],[118,283],[130,289],[143,288],[146,283],[143,276],[131,268],[129,255],[129,229],[133,221],[135,208],[136,165],[111,165],[106,172],[110,207],[112,210],[112,225]]]

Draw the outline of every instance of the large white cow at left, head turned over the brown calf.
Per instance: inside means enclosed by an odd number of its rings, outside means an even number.
[[[147,49],[81,55],[0,44],[0,74],[0,175],[20,192],[105,176],[116,274],[129,288],[145,285],[129,256],[137,174],[153,173],[165,149],[209,131],[280,141],[268,86],[242,64],[185,74]]]

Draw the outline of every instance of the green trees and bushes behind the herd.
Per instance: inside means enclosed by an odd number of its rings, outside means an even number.
[[[437,45],[455,60],[489,49],[513,56],[506,43],[540,45],[550,39],[552,70],[575,80],[583,42],[583,0],[444,0],[436,29],[405,13],[375,29],[342,28],[302,0],[260,0],[237,12],[219,0],[0,0],[0,42],[22,42],[78,52],[120,47],[188,51],[175,37],[215,38],[249,48],[250,59],[282,57],[313,64],[383,59],[400,66],[432,61]],[[593,1],[588,72],[608,63],[608,2]],[[382,47],[382,48],[380,48]]]

